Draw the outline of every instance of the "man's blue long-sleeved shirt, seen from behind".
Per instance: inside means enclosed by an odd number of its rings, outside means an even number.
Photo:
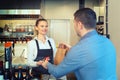
[[[77,80],[117,80],[116,50],[109,39],[93,30],[81,38],[61,64],[48,63],[55,77],[74,72]]]

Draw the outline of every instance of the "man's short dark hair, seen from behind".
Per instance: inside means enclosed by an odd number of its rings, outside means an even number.
[[[74,19],[82,22],[86,29],[96,27],[96,13],[90,8],[82,8],[74,13]]]

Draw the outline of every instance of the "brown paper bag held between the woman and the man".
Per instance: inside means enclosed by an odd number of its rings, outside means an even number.
[[[54,64],[55,65],[58,65],[62,62],[62,60],[64,59],[64,57],[67,53],[67,51],[68,51],[68,48],[66,48],[66,47],[63,47],[63,46],[58,47],[55,58],[54,58]]]

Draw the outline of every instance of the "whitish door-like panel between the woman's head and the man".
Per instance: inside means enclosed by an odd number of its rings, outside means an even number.
[[[70,20],[51,20],[49,31],[50,37],[55,40],[56,46],[60,42],[70,44]]]

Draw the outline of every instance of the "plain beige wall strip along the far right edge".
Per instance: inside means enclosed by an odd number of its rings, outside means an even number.
[[[117,50],[117,73],[120,80],[120,0],[108,0],[108,27],[110,39]]]

